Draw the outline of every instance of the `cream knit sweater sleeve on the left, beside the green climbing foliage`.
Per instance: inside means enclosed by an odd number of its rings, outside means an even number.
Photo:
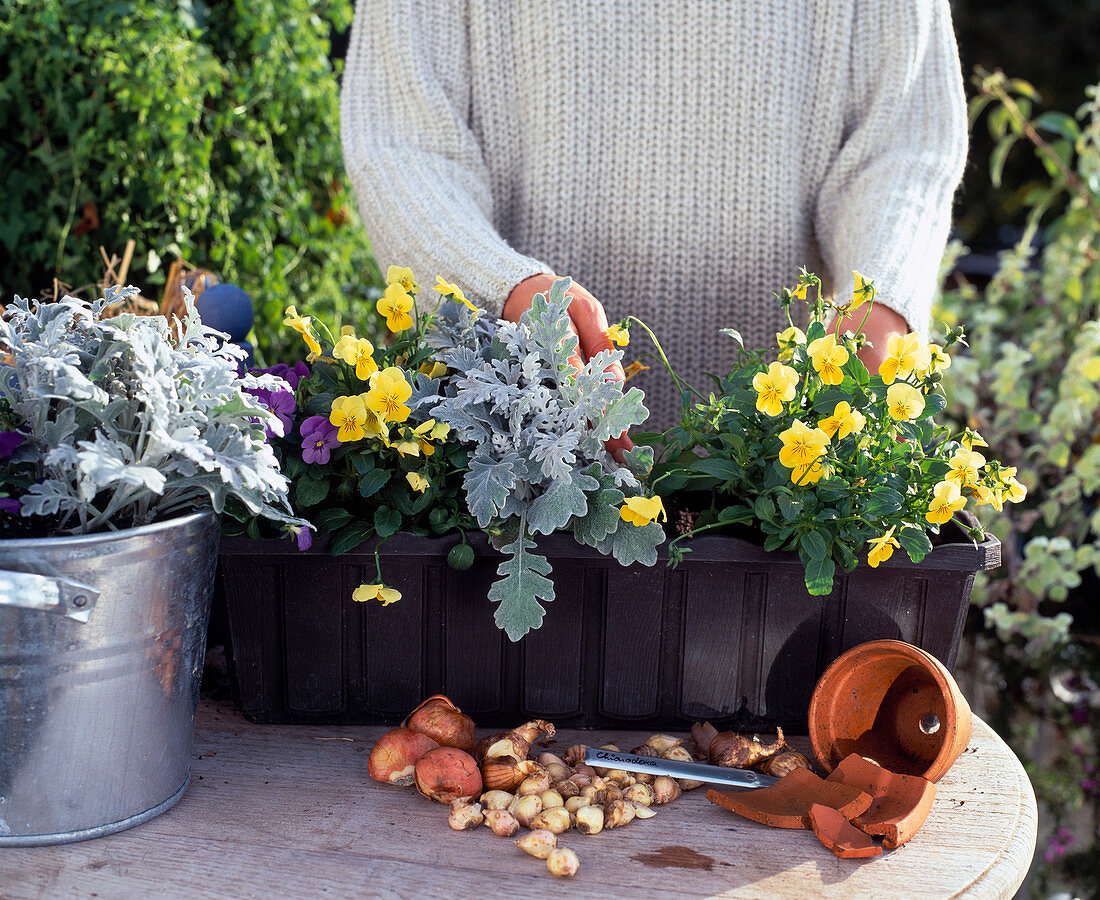
[[[493,194],[468,124],[464,3],[358,4],[341,94],[344,164],[378,264],[454,282],[494,315],[550,272],[493,226]]]

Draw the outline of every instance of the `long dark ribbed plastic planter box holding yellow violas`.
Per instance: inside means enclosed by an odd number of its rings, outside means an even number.
[[[542,627],[512,644],[486,599],[499,557],[472,536],[473,568],[446,563],[457,538],[397,535],[383,550],[403,599],[354,603],[373,582],[372,545],[331,557],[318,540],[227,537],[220,585],[234,701],[265,723],[399,721],[446,693],[479,725],[529,717],[558,725],[676,727],[695,720],[805,732],[818,676],[866,640],[897,638],[955,665],[975,573],[1000,544],[937,547],[860,566],[810,596],[793,553],[701,537],[679,568],[623,568],[571,536],[539,541],[558,599]]]

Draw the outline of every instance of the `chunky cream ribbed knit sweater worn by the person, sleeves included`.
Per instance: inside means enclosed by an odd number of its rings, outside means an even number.
[[[927,328],[966,110],[948,0],[360,0],[342,138],[383,266],[570,275],[708,391],[800,265]]]

